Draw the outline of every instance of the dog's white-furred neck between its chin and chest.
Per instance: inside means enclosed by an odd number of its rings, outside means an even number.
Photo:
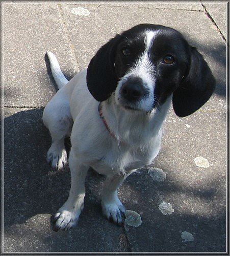
[[[161,136],[161,127],[170,108],[172,96],[151,113],[125,110],[116,104],[113,95],[100,103],[103,117],[113,139],[131,147],[141,146]]]

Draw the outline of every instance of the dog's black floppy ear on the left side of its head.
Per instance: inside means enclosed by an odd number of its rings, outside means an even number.
[[[116,35],[101,47],[91,59],[87,69],[87,86],[97,101],[104,101],[115,91],[117,76],[114,68],[114,58],[120,35]]]

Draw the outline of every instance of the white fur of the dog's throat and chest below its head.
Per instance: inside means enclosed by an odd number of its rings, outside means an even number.
[[[160,111],[140,115],[122,110],[113,102],[113,97],[104,101],[103,115],[114,138],[99,117],[98,102],[91,99],[88,104],[95,105],[94,111],[88,115],[80,111],[74,120],[71,135],[74,154],[105,175],[150,164],[160,150],[162,124],[170,101],[171,97]],[[83,108],[88,109],[87,103]]]

